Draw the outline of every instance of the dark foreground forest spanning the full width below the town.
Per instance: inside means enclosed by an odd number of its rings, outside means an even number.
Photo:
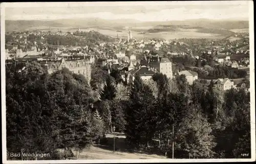
[[[189,86],[183,75],[163,74],[147,82],[136,76],[125,86],[117,72],[97,67],[90,83],[67,68],[48,74],[34,62],[22,71],[6,69],[8,159],[20,151],[66,159],[59,149],[100,143],[113,126],[125,133],[130,150],[171,158],[174,145],[174,158],[251,156],[250,94],[243,90],[222,92],[212,82]]]

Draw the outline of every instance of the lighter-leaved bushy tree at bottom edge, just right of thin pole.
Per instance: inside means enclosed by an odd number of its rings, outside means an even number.
[[[180,124],[181,147],[187,152],[186,157],[212,158],[215,155],[214,135],[211,126],[200,112],[199,106],[191,106],[187,116]]]

